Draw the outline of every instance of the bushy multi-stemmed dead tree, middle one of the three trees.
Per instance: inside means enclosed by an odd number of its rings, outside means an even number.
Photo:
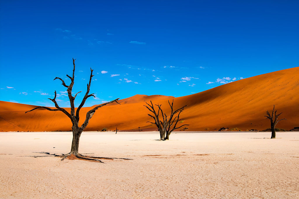
[[[146,102],[147,106],[144,105],[150,112],[153,113],[153,115],[151,114],[147,114],[150,117],[152,117],[155,122],[149,122],[151,124],[155,124],[160,132],[160,140],[169,140],[169,135],[171,132],[173,132],[176,129],[179,129],[183,126],[188,126],[189,124],[184,124],[181,125],[179,127],[176,127],[176,125],[178,124],[179,121],[182,121],[182,119],[180,118],[180,114],[181,112],[184,110],[183,106],[177,110],[173,110],[173,100],[172,100],[172,104],[170,104],[169,100],[168,100],[168,104],[170,106],[171,109],[171,113],[170,115],[166,115],[165,113],[163,113],[163,110],[161,109],[162,105],[159,104],[155,104],[155,106],[158,107],[158,112],[155,110],[154,105],[152,104],[152,101],[150,101],[150,104],[148,104]],[[161,115],[159,115],[161,113]],[[160,118],[159,118],[160,116]],[[162,120],[161,120],[162,117]]]

